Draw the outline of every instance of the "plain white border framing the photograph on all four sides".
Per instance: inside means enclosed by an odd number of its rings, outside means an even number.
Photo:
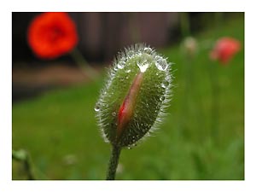
[[[151,1],[151,3],[149,2]],[[255,190],[255,10],[253,1],[236,0],[22,0],[1,2],[0,36],[0,190],[1,191],[256,191]],[[68,11],[68,12],[211,12],[246,11],[246,181],[12,181],[11,180],[11,12]]]

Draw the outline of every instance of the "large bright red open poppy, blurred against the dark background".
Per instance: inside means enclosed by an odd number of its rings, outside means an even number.
[[[32,20],[27,40],[39,58],[55,59],[76,46],[78,33],[73,20],[66,13],[44,13]]]

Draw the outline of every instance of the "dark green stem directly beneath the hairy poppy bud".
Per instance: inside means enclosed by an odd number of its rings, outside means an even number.
[[[113,145],[112,153],[111,153],[110,160],[108,163],[108,172],[107,172],[106,180],[114,180],[115,172],[116,172],[117,166],[119,164],[120,152],[121,152],[121,148]]]

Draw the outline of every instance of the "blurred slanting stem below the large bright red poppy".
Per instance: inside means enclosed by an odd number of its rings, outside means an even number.
[[[76,61],[79,68],[82,69],[82,71],[90,78],[90,79],[96,79],[98,76],[98,73],[93,67],[90,67],[88,65],[88,62],[85,61],[84,56],[81,54],[79,49],[74,48],[73,51],[70,52],[70,55],[72,55],[73,60]]]

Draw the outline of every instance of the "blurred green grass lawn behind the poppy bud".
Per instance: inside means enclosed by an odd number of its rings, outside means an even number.
[[[210,63],[207,49],[221,36],[243,44],[243,26],[241,15],[196,34],[203,48],[190,63],[178,45],[160,49],[175,63],[170,114],[154,137],[122,150],[117,179],[244,179],[243,49],[228,66]],[[211,64],[219,83],[217,137],[210,129]],[[13,105],[13,148],[29,152],[38,179],[105,179],[110,146],[103,143],[94,112],[102,82],[52,90]],[[13,179],[26,179],[15,160]]]

